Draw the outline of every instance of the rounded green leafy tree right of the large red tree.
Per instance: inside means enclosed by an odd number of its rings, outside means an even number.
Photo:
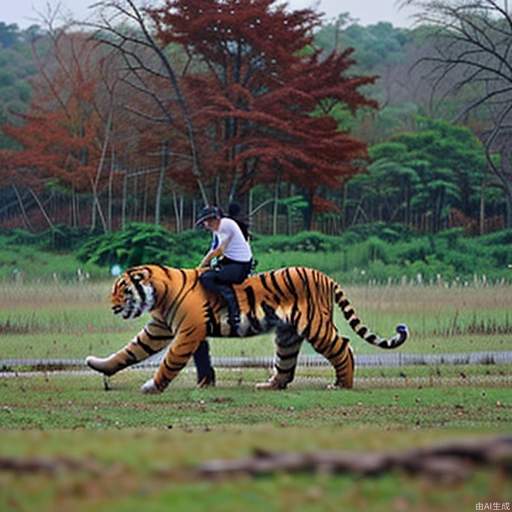
[[[367,220],[413,224],[423,217],[422,226],[437,231],[453,209],[467,218],[480,214],[485,152],[468,128],[418,118],[416,131],[371,146],[369,154],[368,172],[349,182],[351,203]]]

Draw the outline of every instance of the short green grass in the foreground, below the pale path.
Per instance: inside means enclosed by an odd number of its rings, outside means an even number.
[[[455,484],[397,472],[371,479],[316,474],[220,482],[179,476],[204,460],[261,449],[400,451],[504,434],[512,421],[510,389],[453,387],[438,378],[431,386],[374,383],[326,391],[302,380],[289,391],[268,393],[255,392],[252,382],[235,385],[235,376],[221,372],[224,384],[215,389],[194,389],[185,374],[163,395],[143,397],[137,387],[147,377],[119,374],[110,391],[90,375],[0,381],[0,455],[85,466],[51,478],[0,472],[0,510],[164,511],[172,504],[178,511],[448,511],[510,499],[510,480],[493,470]]]

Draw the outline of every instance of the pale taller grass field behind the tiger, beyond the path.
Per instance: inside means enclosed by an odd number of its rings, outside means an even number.
[[[2,358],[77,358],[106,355],[127,343],[145,320],[123,321],[110,312],[110,282],[0,284]],[[363,321],[382,336],[406,323],[411,339],[402,352],[512,350],[512,287],[347,287]],[[357,339],[335,312],[354,350],[376,349]],[[20,340],[23,342],[20,343]],[[272,336],[218,339],[214,355],[271,355]],[[305,353],[313,353],[306,343]]]

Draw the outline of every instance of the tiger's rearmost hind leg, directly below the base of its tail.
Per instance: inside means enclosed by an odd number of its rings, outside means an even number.
[[[329,388],[351,389],[354,386],[354,354],[349,341],[349,338],[340,336],[332,325],[326,336],[311,342],[313,348],[334,367],[336,380]]]

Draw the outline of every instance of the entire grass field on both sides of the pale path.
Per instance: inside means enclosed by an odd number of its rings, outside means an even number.
[[[111,315],[109,283],[0,285],[1,358],[81,358],[126,343],[144,323]],[[350,287],[365,322],[387,335],[408,323],[404,352],[512,350],[512,289]],[[349,332],[337,315],[337,325]],[[359,353],[377,353],[359,340]],[[213,340],[214,355],[271,355],[271,336]],[[305,346],[308,350],[308,347]],[[0,470],[0,510],[22,511],[453,511],[510,502],[510,477],[480,469],[436,482],[392,472],[374,478],[277,474],[222,481],[188,478],[205,460],[276,452],[400,451],[510,432],[509,365],[360,368],[353,390],[327,391],[330,369],[299,368],[283,392],[257,392],[268,370],[220,370],[214,389],[192,368],[159,396],[148,371],[109,380],[91,373],[11,373],[0,379],[0,460],[71,469]],[[10,459],[9,459],[10,460]],[[75,468],[75,469],[73,469]]]

